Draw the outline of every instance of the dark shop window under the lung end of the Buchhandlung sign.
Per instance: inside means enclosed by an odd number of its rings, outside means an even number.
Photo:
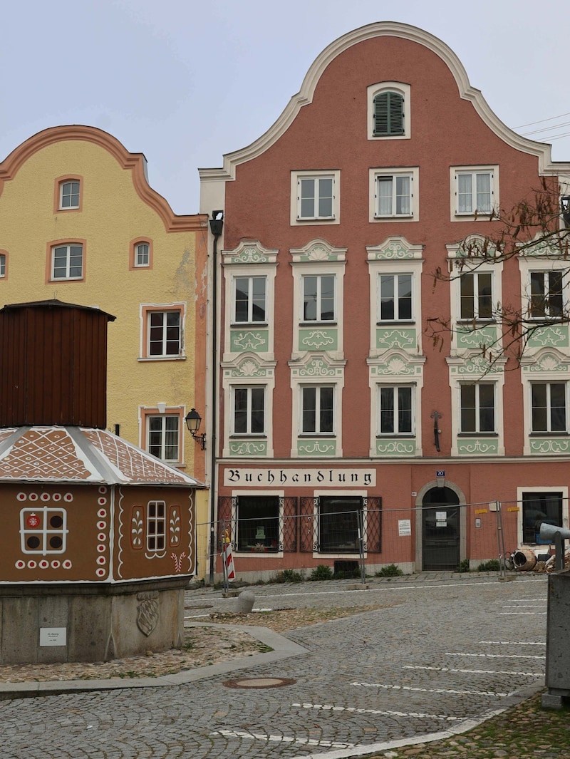
[[[319,499],[319,551],[355,553],[359,550],[362,519],[360,496],[321,496]]]

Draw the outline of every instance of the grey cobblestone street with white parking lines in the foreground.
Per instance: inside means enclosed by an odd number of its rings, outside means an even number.
[[[367,591],[348,585],[252,589],[256,609],[381,606],[288,631],[305,653],[263,654],[261,664],[236,660],[179,685],[129,681],[0,701],[2,756],[357,756],[462,732],[543,685],[546,576],[499,582],[432,574],[373,580]],[[209,588],[189,591],[187,624],[234,603]],[[263,614],[254,621],[262,625]],[[294,682],[225,685],[241,678]]]

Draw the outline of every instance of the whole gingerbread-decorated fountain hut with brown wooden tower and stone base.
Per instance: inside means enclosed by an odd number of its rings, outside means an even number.
[[[203,486],[105,430],[113,319],[59,301],[0,310],[2,664],[181,646]]]

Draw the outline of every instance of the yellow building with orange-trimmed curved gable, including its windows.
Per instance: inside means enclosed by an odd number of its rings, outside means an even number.
[[[184,417],[205,415],[206,239],[206,216],[175,216],[143,154],[99,129],[47,129],[0,164],[0,304],[112,313],[108,429],[202,481]]]

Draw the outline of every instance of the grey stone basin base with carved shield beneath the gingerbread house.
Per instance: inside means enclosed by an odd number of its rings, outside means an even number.
[[[109,661],[180,648],[189,580],[0,586],[0,664]]]

